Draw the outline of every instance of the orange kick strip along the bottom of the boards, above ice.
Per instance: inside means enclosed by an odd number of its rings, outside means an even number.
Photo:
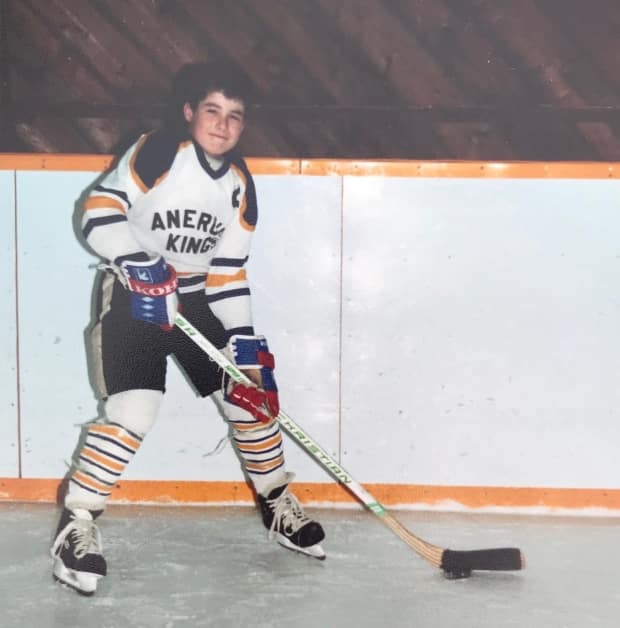
[[[0,502],[56,501],[60,479],[0,478]],[[367,484],[384,506],[441,506],[466,508],[549,508],[620,510],[620,489],[522,488]],[[356,499],[340,484],[295,482],[295,495],[305,503],[352,504]],[[252,491],[244,482],[126,480],[118,482],[111,503],[162,504],[250,503]]]

